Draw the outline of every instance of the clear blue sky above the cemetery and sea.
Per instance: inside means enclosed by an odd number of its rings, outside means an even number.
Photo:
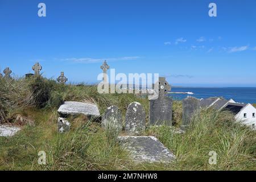
[[[46,77],[96,82],[106,59],[175,86],[256,86],[254,0],[1,0],[0,23],[1,72],[23,76],[39,61]]]

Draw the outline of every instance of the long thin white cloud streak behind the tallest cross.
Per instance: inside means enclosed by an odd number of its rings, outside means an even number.
[[[126,56],[126,57],[112,57],[112,58],[106,58],[106,59],[94,59],[90,57],[85,58],[66,58],[61,59],[61,61],[71,61],[73,63],[101,63],[104,60],[107,61],[125,61],[125,60],[135,60],[138,59],[139,56]]]

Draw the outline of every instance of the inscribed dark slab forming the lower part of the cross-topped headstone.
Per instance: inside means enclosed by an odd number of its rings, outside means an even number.
[[[172,125],[172,99],[168,97],[150,101],[150,125]]]

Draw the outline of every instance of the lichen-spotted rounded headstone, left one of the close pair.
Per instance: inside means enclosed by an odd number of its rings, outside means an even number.
[[[117,106],[110,106],[102,116],[101,126],[105,130],[122,131],[122,113]]]

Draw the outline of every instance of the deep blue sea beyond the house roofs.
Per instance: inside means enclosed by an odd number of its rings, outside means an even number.
[[[187,96],[196,98],[224,97],[236,102],[256,104],[256,88],[172,88],[171,92],[192,92],[193,94],[172,94],[174,100],[183,100]]]

